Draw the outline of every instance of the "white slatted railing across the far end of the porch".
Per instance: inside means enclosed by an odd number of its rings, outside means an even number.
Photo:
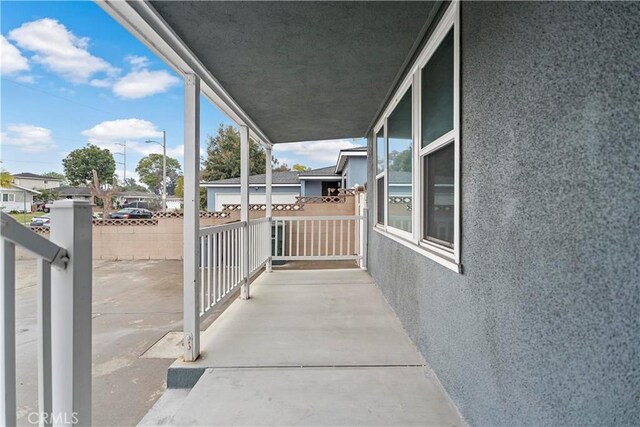
[[[274,217],[276,260],[360,260],[364,216]]]

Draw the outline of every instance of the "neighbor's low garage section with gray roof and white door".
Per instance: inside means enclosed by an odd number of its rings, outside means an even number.
[[[272,174],[273,203],[295,203],[300,196],[300,181],[298,172],[273,172]],[[251,175],[249,177],[249,202],[264,203],[266,175]],[[207,189],[207,210],[222,210],[222,205],[240,203],[240,178],[221,179],[213,182],[203,182],[201,187]]]

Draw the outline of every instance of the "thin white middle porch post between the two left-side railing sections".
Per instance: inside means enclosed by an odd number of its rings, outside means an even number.
[[[240,298],[249,299],[249,128],[240,126],[240,221],[242,230],[242,288]]]

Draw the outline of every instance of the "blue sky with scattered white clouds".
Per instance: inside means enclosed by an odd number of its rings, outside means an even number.
[[[183,80],[90,1],[0,2],[0,158],[11,173],[63,172],[62,159],[93,143],[114,153],[117,174],[136,178],[138,161],[162,153],[183,162]],[[220,124],[234,125],[201,100],[201,153]],[[280,163],[335,164],[359,140],[278,144]]]

